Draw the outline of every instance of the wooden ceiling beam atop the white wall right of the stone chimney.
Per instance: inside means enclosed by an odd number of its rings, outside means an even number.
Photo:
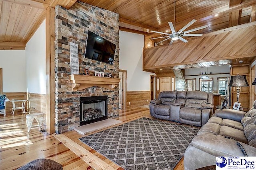
[[[126,20],[124,18],[119,18],[119,26],[122,28],[134,29],[134,30],[143,31],[146,33],[150,33],[151,30],[158,31],[157,28],[150,27],[148,25],[144,25],[144,24],[137,23],[134,21]]]

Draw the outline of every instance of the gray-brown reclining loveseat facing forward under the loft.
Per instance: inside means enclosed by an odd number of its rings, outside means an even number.
[[[213,93],[201,91],[160,92],[150,101],[150,115],[159,119],[202,126],[212,115]]]

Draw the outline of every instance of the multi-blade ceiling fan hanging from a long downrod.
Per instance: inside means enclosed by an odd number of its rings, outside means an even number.
[[[159,43],[162,43],[163,41],[166,41],[168,39],[171,39],[171,42],[169,45],[171,45],[173,43],[174,40],[181,40],[183,41],[184,43],[187,43],[188,41],[182,37],[192,37],[192,36],[202,36],[203,34],[186,34],[186,33],[190,33],[192,31],[197,31],[199,29],[204,29],[204,28],[207,28],[208,25],[204,25],[202,27],[197,27],[197,28],[194,28],[194,29],[190,29],[188,31],[184,31],[185,29],[187,29],[190,25],[192,25],[193,23],[196,22],[196,20],[192,20],[190,21],[187,25],[185,25],[184,27],[182,27],[182,29],[180,29],[179,31],[175,31],[175,22],[176,22],[176,10],[175,10],[175,6],[176,6],[176,1],[174,0],[174,27],[173,27],[173,24],[172,22],[168,22],[169,23],[169,26],[170,26],[170,29],[172,31],[172,33],[164,33],[164,32],[158,32],[158,31],[151,31],[151,32],[154,32],[154,33],[160,33],[160,34],[164,34],[164,35],[168,35],[168,36],[164,36],[164,37],[157,37],[157,38],[151,38],[151,39],[158,39],[158,38],[166,38],[156,44],[159,44]]]

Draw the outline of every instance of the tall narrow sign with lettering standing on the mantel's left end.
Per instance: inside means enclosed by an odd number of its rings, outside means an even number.
[[[78,45],[69,42],[70,49],[70,74],[79,74]]]

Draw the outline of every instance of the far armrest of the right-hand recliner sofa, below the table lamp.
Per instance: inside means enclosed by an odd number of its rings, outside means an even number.
[[[221,117],[222,119],[231,119],[234,121],[241,122],[246,112],[233,109],[216,109],[215,115]]]

